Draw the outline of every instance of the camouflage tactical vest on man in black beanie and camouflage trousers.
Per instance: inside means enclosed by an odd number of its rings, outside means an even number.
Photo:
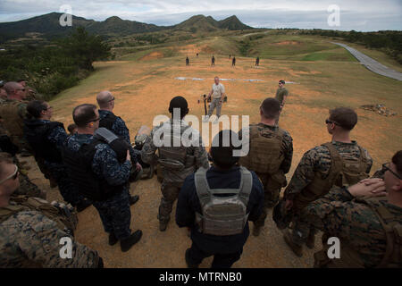
[[[163,128],[163,127],[162,127]],[[185,130],[187,130],[189,126],[186,127]],[[184,130],[183,130],[184,132]],[[188,156],[187,155],[187,147],[182,146],[181,142],[181,134],[182,132],[180,131],[180,134],[176,134],[176,132],[173,132],[171,130],[171,134],[164,134],[163,135],[163,141],[168,141],[170,142],[171,146],[163,146],[159,147],[159,160],[158,162],[168,170],[172,171],[182,171],[185,169],[185,167],[188,167],[190,165],[194,164],[194,158],[193,156]],[[174,146],[174,142],[180,142],[179,147]],[[191,162],[188,159],[193,159]]]

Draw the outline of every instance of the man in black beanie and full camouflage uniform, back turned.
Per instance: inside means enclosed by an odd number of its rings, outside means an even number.
[[[188,114],[187,100],[184,97],[173,97],[169,112],[172,114],[172,119],[161,123],[151,131],[151,136],[141,151],[142,160],[152,164],[155,162],[155,152],[158,149],[158,161],[163,168],[162,199],[158,214],[160,231],[166,230],[173,203],[179,197],[180,188],[186,177],[200,166],[209,167],[201,135],[183,120]],[[188,144],[188,147],[184,147],[183,144]]]

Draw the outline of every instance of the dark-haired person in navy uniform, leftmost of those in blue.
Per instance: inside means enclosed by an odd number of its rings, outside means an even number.
[[[47,172],[56,181],[64,201],[76,206],[79,212],[91,205],[74,187],[62,161],[62,149],[67,133],[62,122],[51,122],[53,108],[45,101],[33,100],[27,106],[24,136]]]

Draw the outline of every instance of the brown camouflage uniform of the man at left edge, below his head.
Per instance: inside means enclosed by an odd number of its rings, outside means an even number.
[[[0,114],[4,120],[4,128],[10,133],[13,144],[21,151],[27,147],[27,142],[23,137],[24,120],[27,118],[28,101],[16,99],[6,99],[0,105]]]

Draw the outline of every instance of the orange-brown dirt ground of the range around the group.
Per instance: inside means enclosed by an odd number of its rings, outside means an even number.
[[[190,66],[186,67],[185,58],[188,50],[201,54],[198,57],[190,55]],[[180,57],[159,58],[160,55],[155,53],[143,57],[138,62],[96,63],[96,72],[93,75],[82,80],[79,86],[64,91],[52,100],[53,120],[62,121],[67,126],[72,122],[71,110],[75,105],[95,103],[96,93],[108,89],[116,98],[114,113],[125,120],[133,140],[136,130],[141,125],[152,126],[155,115],[168,115],[169,101],[174,96],[180,95],[188,99],[189,114],[198,118],[203,115],[204,106],[197,104],[197,100],[210,91],[214,76],[218,75],[224,79],[264,80],[223,82],[229,100],[223,105],[222,114],[249,114],[250,122],[258,122],[258,107],[265,97],[274,95],[278,80],[293,81],[297,84],[287,85],[290,97],[280,121],[281,127],[289,130],[294,139],[294,158],[288,174],[289,180],[306,150],[331,139],[323,123],[328,116],[328,108],[338,104],[342,98],[348,99],[348,105],[357,106],[365,103],[364,99],[357,96],[339,95],[335,91],[332,93],[332,79],[325,78],[328,75],[325,63],[303,63],[303,69],[299,69],[298,63],[262,60],[260,66],[255,67],[255,59],[237,56],[237,66],[231,67],[227,55],[215,55],[216,65],[211,67],[211,55],[202,54],[202,51],[197,51],[194,46],[188,46],[182,49],[182,52],[183,55]],[[349,77],[356,79],[360,79],[361,72],[369,80],[370,77],[375,77],[361,69],[362,67],[356,63],[348,65],[339,63],[333,72],[335,77],[345,74],[346,70]],[[314,76],[321,77],[319,83],[312,81]],[[175,80],[176,77],[205,80]],[[322,85],[325,90],[320,89],[319,86]],[[368,86],[367,90],[363,88],[360,92],[370,95],[370,88]],[[317,98],[328,101],[316,104]],[[400,103],[393,107],[397,109],[398,114],[401,114]],[[372,154],[375,162],[373,172],[375,168],[389,160],[398,147],[400,148],[400,129],[395,130],[395,126],[400,126],[401,117],[398,115],[385,118],[362,110],[357,110],[357,113],[361,123],[357,124],[356,130],[352,132],[352,138]],[[376,129],[364,127],[364,123],[373,121],[376,122]],[[394,135],[397,141],[386,141],[386,134]],[[384,148],[382,146],[385,141],[387,147]],[[58,190],[49,189],[48,182],[38,171],[36,164],[31,163],[29,176],[39,187],[48,190],[48,200],[61,199]],[[184,252],[190,246],[190,240],[187,230],[180,229],[174,223],[175,209],[167,231],[158,230],[156,215],[161,197],[160,183],[154,177],[132,184],[130,191],[139,195],[138,203],[131,206],[131,229],[133,231],[141,229],[144,232],[142,240],[136,246],[124,254],[121,253],[119,245],[108,246],[107,235],[93,206],[79,214],[80,223],[76,239],[99,251],[101,257],[104,257],[106,267],[185,267]],[[250,229],[252,230],[251,223]],[[316,243],[315,250],[319,249],[319,244]],[[261,235],[256,238],[250,235],[243,255],[234,267],[311,267],[313,254],[314,250],[305,248],[304,257],[296,257],[282,239],[281,231],[272,222],[270,213]],[[209,267],[211,262],[211,257],[205,259],[201,267]]]

